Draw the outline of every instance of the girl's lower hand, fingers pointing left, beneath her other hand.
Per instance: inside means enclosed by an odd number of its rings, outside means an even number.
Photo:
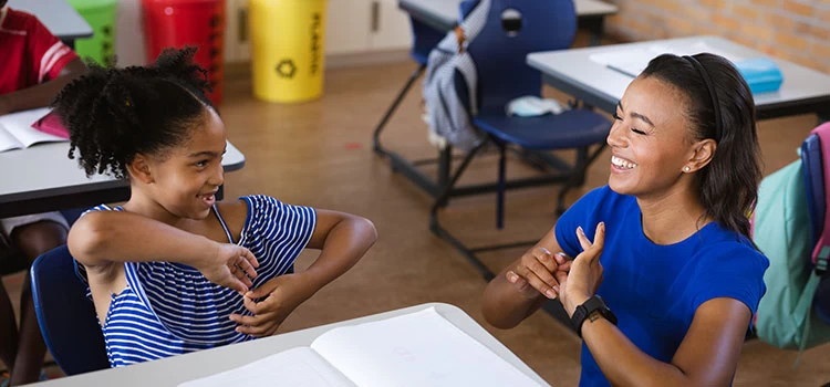
[[[314,290],[309,289],[302,274],[280,275],[245,294],[245,307],[253,313],[252,316],[235,313],[230,315],[230,320],[239,324],[237,332],[255,337],[270,336],[312,294]]]

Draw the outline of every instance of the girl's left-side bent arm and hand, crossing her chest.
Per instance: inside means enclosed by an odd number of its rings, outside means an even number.
[[[257,276],[248,249],[219,243],[129,212],[92,211],[70,229],[72,257],[95,269],[113,262],[168,261],[190,265],[219,285],[245,292]],[[246,275],[247,274],[247,275]]]

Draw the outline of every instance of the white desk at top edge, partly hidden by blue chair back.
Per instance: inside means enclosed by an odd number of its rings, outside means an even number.
[[[463,0],[398,0],[398,7],[414,19],[438,31],[449,31],[458,22]],[[577,17],[591,31],[591,45],[599,45],[604,18],[616,13],[616,6],[600,0],[573,0]]]

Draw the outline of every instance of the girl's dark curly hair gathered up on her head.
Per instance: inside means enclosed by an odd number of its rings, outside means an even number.
[[[165,50],[152,66],[95,64],[58,94],[53,106],[70,133],[87,176],[128,177],[136,154],[162,154],[189,138],[205,118],[207,72],[193,63],[195,48]]]

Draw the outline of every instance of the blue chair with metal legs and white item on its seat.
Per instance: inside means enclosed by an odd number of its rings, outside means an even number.
[[[502,15],[509,14],[504,13],[506,10],[518,11],[520,17],[502,19]],[[456,247],[487,280],[492,279],[494,274],[478,260],[476,252],[532,242],[469,249],[440,227],[437,210],[454,196],[459,177],[470,160],[489,143],[498,147],[500,156],[497,184],[489,190],[497,194],[496,222],[499,229],[504,223],[504,196],[508,188],[564,184],[557,206],[560,213],[564,211],[566,192],[582,185],[585,169],[605,146],[611,123],[589,108],[573,108],[558,115],[527,118],[507,116],[505,106],[520,96],[541,95],[541,75],[526,64],[527,54],[568,49],[575,31],[577,14],[571,0],[491,0],[484,29],[467,48],[478,71],[479,95],[469,96],[479,102],[479,114],[473,122],[487,135],[488,140],[468,153],[448,184],[443,187],[442,195],[430,210],[430,230]],[[593,145],[595,149],[591,151],[590,147]],[[508,147],[532,153],[557,172],[507,181]],[[575,149],[575,161],[567,164],[547,153],[558,149]]]

